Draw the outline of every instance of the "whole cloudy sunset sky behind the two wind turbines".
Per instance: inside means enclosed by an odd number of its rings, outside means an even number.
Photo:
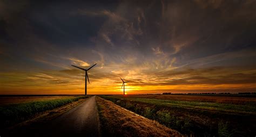
[[[256,1],[0,0],[0,94],[253,92]]]

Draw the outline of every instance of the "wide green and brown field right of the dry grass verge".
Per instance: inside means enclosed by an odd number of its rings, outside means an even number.
[[[255,98],[187,95],[101,97],[188,136],[256,134]]]

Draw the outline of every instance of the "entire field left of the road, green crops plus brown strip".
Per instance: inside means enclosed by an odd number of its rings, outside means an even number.
[[[1,98],[2,100],[5,100],[5,103],[0,105],[1,128],[29,120],[42,112],[56,109],[60,106],[76,102],[79,99],[87,97],[88,96],[46,96]]]

